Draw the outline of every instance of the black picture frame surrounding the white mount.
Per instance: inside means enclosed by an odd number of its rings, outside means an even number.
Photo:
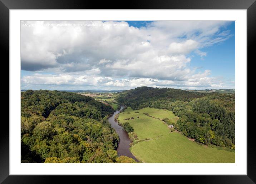
[[[256,40],[256,2],[255,0],[179,0],[179,1],[162,1],[162,0],[137,0],[125,1],[124,5],[119,2],[111,1],[87,1],[87,0],[0,0],[0,46],[2,67],[5,72],[2,75],[2,88],[0,94],[1,102],[5,104],[2,111],[3,115],[9,114],[9,99],[6,94],[9,94],[9,80],[6,80],[6,75],[9,76],[9,10],[10,9],[246,9],[247,10],[247,66],[250,61],[250,67],[247,67],[247,84],[253,81],[253,76],[248,75],[248,70],[252,70],[254,59],[253,45]],[[245,62],[245,61],[243,61]],[[2,68],[2,69],[3,69]],[[5,80],[4,80],[5,79]],[[3,84],[4,83],[4,84]],[[4,86],[4,87],[3,87]],[[253,86],[247,87],[247,98],[250,101],[247,104],[247,114],[253,114],[254,108],[249,108],[249,104],[254,104],[253,96],[256,92],[253,91]],[[5,98],[3,98],[5,97]],[[9,96],[10,98],[10,96]],[[9,105],[8,105],[9,107]],[[8,111],[8,112],[7,112]],[[21,176],[9,175],[9,119],[1,121],[0,133],[0,183],[53,183],[53,179],[57,179],[57,183],[74,183],[74,178],[70,176]],[[248,123],[247,123],[248,122]],[[256,183],[256,144],[254,136],[254,122],[247,120],[247,175],[208,175],[208,176],[171,176],[172,181],[189,180],[189,183]],[[203,169],[203,168],[202,168]],[[74,177],[74,176],[73,176]],[[75,179],[91,179],[93,176],[75,176]],[[95,176],[94,176],[95,177]],[[110,180],[118,180],[119,176],[108,176]],[[125,176],[128,177],[128,176]],[[102,176],[97,176],[97,181],[102,179]],[[146,180],[151,180],[152,176],[144,177]],[[131,183],[132,179],[122,179],[122,183]],[[98,183],[98,182],[97,182]]]

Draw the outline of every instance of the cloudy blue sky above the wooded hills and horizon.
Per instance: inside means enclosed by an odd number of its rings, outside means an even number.
[[[235,21],[21,21],[21,89],[235,89]]]

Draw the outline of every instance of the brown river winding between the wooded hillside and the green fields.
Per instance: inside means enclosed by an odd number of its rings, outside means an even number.
[[[124,106],[121,106],[120,110],[122,110]],[[138,161],[135,156],[131,153],[129,150],[130,146],[129,144],[131,143],[131,140],[127,134],[126,131],[123,130],[123,127],[118,125],[117,121],[115,121],[114,117],[116,114],[120,113],[120,110],[115,111],[115,113],[108,118],[109,123],[111,126],[115,129],[119,136],[119,144],[117,147],[117,153],[119,156],[124,155],[133,158],[134,160]]]

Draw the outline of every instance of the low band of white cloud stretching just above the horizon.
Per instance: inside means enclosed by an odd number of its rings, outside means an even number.
[[[211,71],[205,70],[184,78],[184,80],[161,80],[157,78],[126,78],[113,79],[110,77],[90,76],[90,75],[46,75],[35,74],[24,76],[21,79],[23,87],[31,84],[51,84],[51,85],[83,85],[100,87],[118,87],[118,89],[132,89],[138,86],[151,86],[158,88],[222,88],[223,82],[215,77],[210,77]]]

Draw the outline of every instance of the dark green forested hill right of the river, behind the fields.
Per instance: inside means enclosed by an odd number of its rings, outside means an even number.
[[[172,110],[179,119],[177,123],[167,123],[183,135],[202,144],[235,149],[234,94],[139,87],[118,93],[115,100],[133,110],[146,107]]]

